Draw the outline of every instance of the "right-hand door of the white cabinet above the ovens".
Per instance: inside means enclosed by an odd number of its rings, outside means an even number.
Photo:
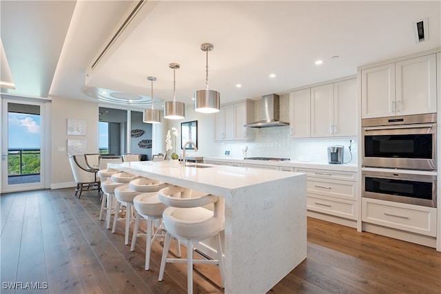
[[[396,115],[436,112],[435,54],[397,62]]]

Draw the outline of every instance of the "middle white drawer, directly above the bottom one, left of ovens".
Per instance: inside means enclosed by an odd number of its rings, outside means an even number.
[[[309,178],[307,180],[307,192],[322,196],[357,200],[358,183],[348,180],[321,180]]]

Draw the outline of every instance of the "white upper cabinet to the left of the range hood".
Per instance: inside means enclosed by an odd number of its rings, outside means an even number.
[[[254,102],[223,105],[215,114],[214,140],[254,140],[254,129],[243,126],[253,122]]]

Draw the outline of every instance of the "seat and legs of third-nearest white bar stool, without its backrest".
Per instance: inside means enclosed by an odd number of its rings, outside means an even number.
[[[115,207],[115,216],[113,219],[113,227],[112,233],[116,230],[116,221],[125,219],[125,233],[124,233],[124,244],[129,244],[129,227],[130,220],[133,220],[132,216],[132,206],[133,206],[133,198],[136,195],[139,195],[141,192],[133,191],[130,189],[128,184],[123,184],[122,186],[116,187],[115,189],[115,198],[116,198],[116,207]],[[121,209],[121,204],[125,205],[125,209]],[[125,210],[125,218],[118,218],[119,211]]]

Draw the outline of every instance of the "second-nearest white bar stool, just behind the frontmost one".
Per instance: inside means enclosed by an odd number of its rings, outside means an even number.
[[[167,187],[164,182],[158,182],[149,178],[139,178],[132,180],[129,183],[129,187],[132,190],[144,192],[139,194],[133,199],[134,207],[136,210],[136,218],[134,231],[132,236],[132,246],[130,251],[134,251],[136,245],[136,237],[139,235],[146,235],[145,240],[145,270],[150,269],[150,253],[152,249],[152,242],[156,238],[165,238],[162,233],[162,214],[167,205],[163,204],[158,199],[158,191]],[[139,223],[141,217],[147,220],[147,232],[139,233]],[[154,222],[159,221],[156,231],[154,230]],[[181,256],[181,246],[176,240],[176,253]]]

